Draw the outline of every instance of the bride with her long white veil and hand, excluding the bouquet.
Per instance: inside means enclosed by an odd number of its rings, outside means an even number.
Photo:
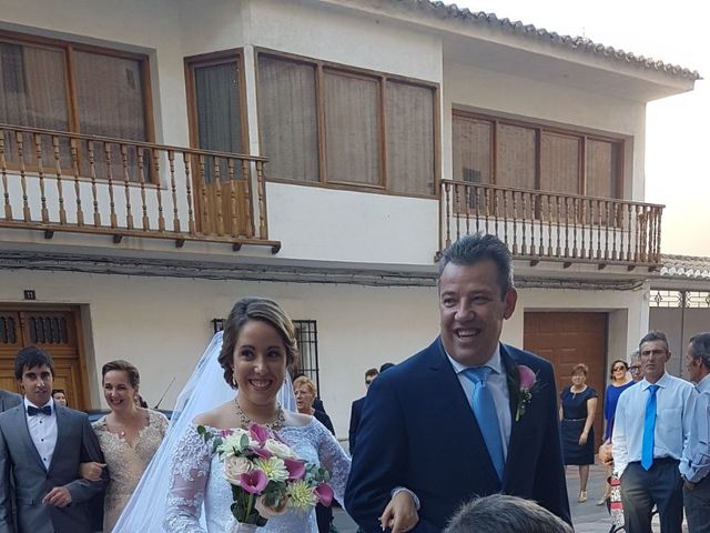
[[[331,486],[342,502],[351,460],[315,418],[296,412],[286,372],[295,356],[293,324],[278,304],[261,298],[236,302],[223,335],[215,334],[178,398],[168,435],[113,532],[234,531],[231,485],[197,425],[226,430],[254,422],[273,428],[300,459],[331,471]],[[406,523],[399,531],[417,520],[405,493],[394,496],[383,515],[383,524]],[[317,533],[315,512],[288,511],[256,531]]]

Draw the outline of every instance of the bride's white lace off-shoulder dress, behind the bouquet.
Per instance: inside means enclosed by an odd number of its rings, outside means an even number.
[[[343,502],[351,460],[328,430],[315,419],[304,426],[286,426],[278,431],[300,459],[320,464],[332,473],[331,486]],[[212,446],[190,425],[175,446],[170,471],[170,492],[163,527],[172,533],[204,533],[200,525],[202,504],[207,533],[231,531],[234,519],[230,511],[232,490],[224,477],[220,457]],[[258,533],[317,533],[315,511],[288,511],[268,520]]]

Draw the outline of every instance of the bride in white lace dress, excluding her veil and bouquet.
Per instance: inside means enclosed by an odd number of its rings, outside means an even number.
[[[229,532],[235,526],[230,483],[212,446],[197,434],[197,425],[214,430],[247,428],[252,422],[271,426],[300,459],[331,471],[335,496],[343,500],[351,467],[347,454],[316,419],[284,411],[276,401],[286,366],[295,356],[293,324],[275,302],[255,298],[236,302],[225,324],[219,361],[224,380],[239,389],[239,394],[200,414],[175,446],[163,519],[165,531],[204,532],[200,524],[203,503],[209,533]],[[315,513],[287,511],[268,519],[256,531],[317,533]]]

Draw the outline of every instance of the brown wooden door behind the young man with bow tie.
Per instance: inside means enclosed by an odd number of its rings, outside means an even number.
[[[80,342],[78,308],[0,305],[0,388],[21,393],[14,358],[37,345],[54,360],[54,389],[63,389],[69,406],[89,409],[88,381]]]

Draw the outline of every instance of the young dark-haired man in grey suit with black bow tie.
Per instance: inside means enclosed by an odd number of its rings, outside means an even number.
[[[37,346],[23,348],[14,375],[24,392],[19,405],[0,414],[0,533],[90,533],[87,502],[106,485],[78,479],[81,462],[103,463],[99,441],[84,413],[51,398],[54,363]]]

